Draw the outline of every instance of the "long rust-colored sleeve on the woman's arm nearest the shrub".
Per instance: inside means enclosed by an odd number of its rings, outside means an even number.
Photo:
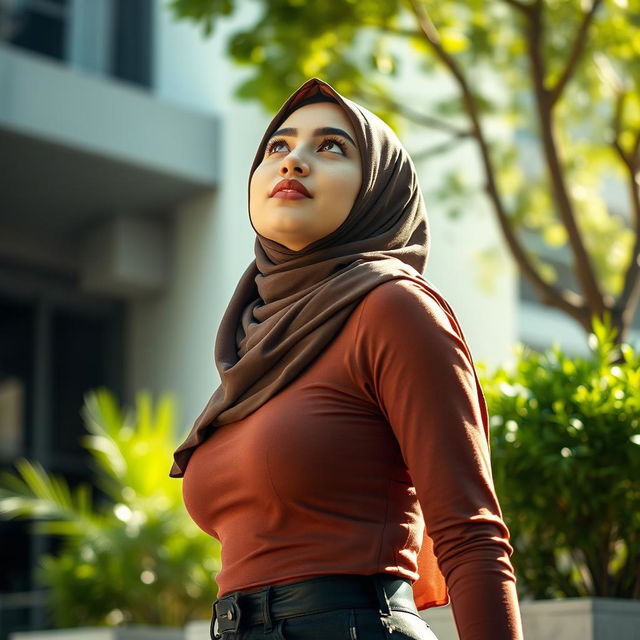
[[[519,640],[486,405],[466,342],[439,298],[409,280],[374,289],[360,316],[358,369],[400,445],[460,640]]]

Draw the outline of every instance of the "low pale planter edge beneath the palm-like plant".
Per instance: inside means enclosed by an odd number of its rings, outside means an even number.
[[[205,638],[208,639],[208,635]],[[180,627],[124,625],[121,627],[75,627],[45,631],[15,631],[9,640],[184,640]]]

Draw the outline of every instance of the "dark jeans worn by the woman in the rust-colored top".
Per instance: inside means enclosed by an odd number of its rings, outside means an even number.
[[[410,583],[404,580],[389,580],[389,576],[367,577],[375,582],[368,598],[368,587],[348,582],[345,584],[303,581],[302,589],[294,583],[284,587],[269,587],[276,595],[255,594],[249,601],[241,597],[236,604],[226,600],[219,613],[223,627],[220,631],[215,618],[211,621],[212,640],[438,640],[429,625],[418,615],[413,602]],[[309,586],[310,585],[310,586]],[[265,588],[267,589],[267,588]],[[278,591],[279,590],[279,591]],[[317,590],[323,591],[318,595]],[[357,594],[356,594],[357,592]],[[275,601],[273,598],[275,597]],[[233,599],[234,594],[225,598]],[[329,599],[329,600],[328,600]],[[222,599],[224,600],[224,598]],[[282,614],[287,611],[283,601],[294,602],[295,615]],[[363,601],[364,600],[364,601]],[[369,600],[367,602],[367,600]],[[271,606],[270,603],[274,602]],[[335,602],[329,610],[318,611],[320,602]],[[221,600],[216,601],[218,603]],[[342,606],[344,602],[346,606]],[[351,602],[352,606],[347,603]],[[354,604],[355,603],[355,604]],[[231,620],[238,620],[236,629],[228,629],[226,616],[232,609]],[[266,621],[255,623],[255,612],[270,612]],[[316,610],[314,610],[316,609]],[[214,605],[215,610],[215,605]],[[306,613],[306,611],[309,613]],[[225,613],[226,612],[226,613]],[[252,615],[254,619],[251,619]],[[262,615],[261,620],[265,616]]]

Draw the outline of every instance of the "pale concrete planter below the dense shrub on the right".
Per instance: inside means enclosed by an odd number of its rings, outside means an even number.
[[[638,600],[566,598],[522,601],[520,612],[526,640],[640,639]],[[438,640],[458,640],[450,605],[428,609],[422,616]]]

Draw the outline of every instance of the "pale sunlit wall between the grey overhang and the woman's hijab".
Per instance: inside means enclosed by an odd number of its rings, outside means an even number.
[[[174,22],[163,5],[158,1],[156,7],[154,91],[216,115],[220,177],[216,189],[171,212],[170,282],[161,296],[131,305],[127,353],[130,393],[174,392],[182,433],[219,383],[213,344],[227,302],[253,259],[247,177],[270,118],[231,96],[242,70],[228,61],[224,34],[250,19],[250,11],[223,21],[205,41],[200,27]]]

